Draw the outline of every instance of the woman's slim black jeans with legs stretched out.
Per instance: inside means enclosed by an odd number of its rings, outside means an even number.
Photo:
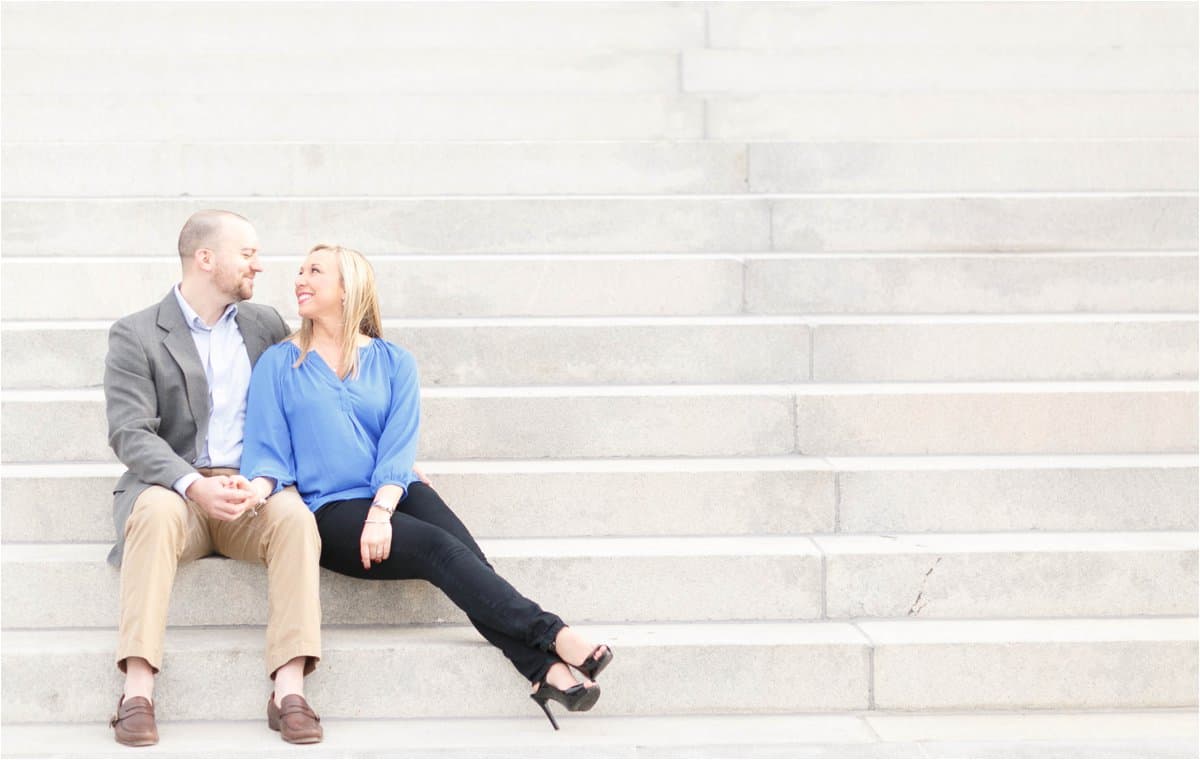
[[[497,575],[467,526],[424,483],[408,492],[391,517],[391,555],[362,569],[359,539],[370,498],[329,502],[317,510],[320,565],[368,580],[430,581],[443,591],[493,646],[530,682],[541,681],[558,657],[548,652],[563,628]]]

